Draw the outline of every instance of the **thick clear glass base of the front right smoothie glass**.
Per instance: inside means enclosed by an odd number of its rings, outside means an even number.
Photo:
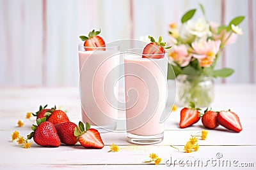
[[[141,136],[141,135],[131,134],[127,132],[127,140],[130,143],[135,143],[135,144],[142,144],[142,145],[156,144],[163,141],[163,139],[164,139],[164,132],[161,134],[156,134],[152,136]]]

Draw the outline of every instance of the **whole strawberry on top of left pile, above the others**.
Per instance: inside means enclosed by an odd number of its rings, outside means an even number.
[[[51,111],[47,111],[44,116],[54,125],[69,122],[67,114],[62,110],[56,110],[56,106]]]

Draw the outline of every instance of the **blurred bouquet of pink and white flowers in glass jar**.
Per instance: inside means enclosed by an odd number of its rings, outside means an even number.
[[[231,68],[216,69],[221,50],[236,41],[243,34],[238,25],[244,16],[232,19],[228,25],[209,22],[204,6],[200,4],[202,17],[192,20],[196,9],[187,11],[181,18],[181,25],[170,24],[168,50],[170,65],[168,79],[177,78],[177,104],[206,107],[213,99],[213,78],[225,78],[234,73]]]

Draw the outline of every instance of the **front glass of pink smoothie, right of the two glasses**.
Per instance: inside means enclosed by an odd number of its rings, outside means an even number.
[[[168,53],[161,59],[142,58],[141,53],[124,54],[127,140],[154,144],[164,138],[160,120],[167,98]]]

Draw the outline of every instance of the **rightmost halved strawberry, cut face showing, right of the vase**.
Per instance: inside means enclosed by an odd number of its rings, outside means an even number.
[[[242,125],[240,123],[239,117],[236,113],[228,111],[220,111],[217,118],[220,125],[230,129],[231,131],[240,132],[242,131]]]

